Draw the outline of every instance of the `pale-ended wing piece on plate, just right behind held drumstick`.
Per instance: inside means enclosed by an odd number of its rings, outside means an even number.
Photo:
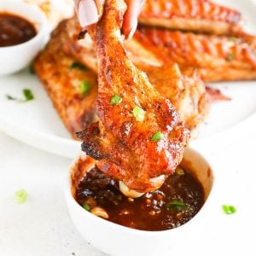
[[[205,83],[192,72],[183,75],[177,64],[172,62],[162,67],[138,66],[148,74],[151,84],[154,84],[160,95],[168,97],[190,131],[200,125],[209,111],[209,97]]]

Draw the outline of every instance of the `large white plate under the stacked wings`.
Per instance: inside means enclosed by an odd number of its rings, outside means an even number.
[[[247,21],[247,30],[256,33],[255,4],[253,1],[218,1],[241,10]],[[216,102],[197,140],[203,140],[241,123],[256,113],[256,82],[236,82],[214,84],[230,102]],[[12,102],[6,95],[21,96],[24,88],[29,88],[35,100],[25,103]],[[61,123],[49,97],[36,76],[27,70],[12,76],[0,78],[0,130],[23,143],[50,153],[73,158],[80,148]],[[199,142],[198,141],[198,142]]]

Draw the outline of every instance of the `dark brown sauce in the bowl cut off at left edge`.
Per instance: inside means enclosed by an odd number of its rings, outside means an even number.
[[[0,47],[22,44],[34,38],[37,31],[31,22],[8,13],[0,13]]]

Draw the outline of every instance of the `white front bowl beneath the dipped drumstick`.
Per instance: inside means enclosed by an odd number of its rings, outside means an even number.
[[[86,156],[82,158],[86,159]],[[196,250],[201,246],[200,237],[196,234],[201,230],[204,234],[207,221],[208,205],[211,203],[210,192],[213,184],[213,174],[210,166],[204,158],[195,152],[195,150],[187,148],[183,157],[183,166],[189,165],[189,170],[201,181],[206,195],[206,202],[194,218],[181,227],[173,230],[164,231],[143,231],[133,230],[119,224],[113,224],[105,219],[96,217],[90,212],[84,211],[82,207],[73,198],[73,177],[79,177],[76,173],[79,160],[73,162],[67,184],[65,194],[67,199],[67,207],[73,223],[79,230],[80,234],[86,241],[97,247],[104,253],[114,256],[136,256],[136,255],[183,255],[184,249],[193,250],[190,247],[194,241]],[[78,175],[79,174],[79,175]],[[182,252],[181,252],[182,251]],[[195,252],[191,252],[195,255]]]

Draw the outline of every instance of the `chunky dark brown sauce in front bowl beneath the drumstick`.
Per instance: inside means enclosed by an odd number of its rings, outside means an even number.
[[[178,167],[162,187],[142,197],[127,198],[118,181],[94,167],[79,183],[76,201],[89,211],[102,207],[108,219],[137,230],[170,230],[193,218],[204,204],[201,183],[187,170]],[[84,210],[85,211],[85,210]]]

